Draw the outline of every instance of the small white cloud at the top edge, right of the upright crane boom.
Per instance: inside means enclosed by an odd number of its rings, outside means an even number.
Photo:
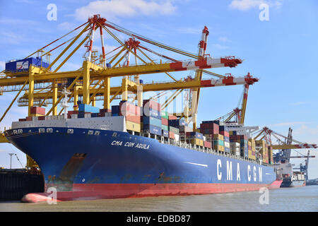
[[[248,11],[251,8],[257,8],[260,4],[268,4],[270,7],[279,8],[283,0],[232,0],[230,8],[240,11]]]

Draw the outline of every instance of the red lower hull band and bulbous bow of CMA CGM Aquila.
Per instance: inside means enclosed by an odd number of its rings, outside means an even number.
[[[240,191],[257,191],[262,187],[278,189],[282,181],[272,184],[73,184],[73,191],[58,191],[57,201],[93,200],[103,198],[134,198],[146,196],[187,196]],[[52,194],[30,193],[23,202],[52,201]]]

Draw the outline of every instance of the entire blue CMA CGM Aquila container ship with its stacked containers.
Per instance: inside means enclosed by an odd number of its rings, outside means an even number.
[[[215,194],[279,188],[272,151],[230,131],[220,121],[202,121],[193,131],[187,121],[143,100],[143,107],[122,101],[112,109],[78,105],[78,111],[13,121],[5,136],[37,162],[44,193],[25,202],[162,195]],[[263,147],[262,161],[255,146]]]

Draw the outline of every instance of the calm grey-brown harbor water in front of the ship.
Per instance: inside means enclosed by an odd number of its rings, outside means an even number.
[[[57,204],[1,202],[0,211],[317,212],[318,186],[196,196],[64,201]]]

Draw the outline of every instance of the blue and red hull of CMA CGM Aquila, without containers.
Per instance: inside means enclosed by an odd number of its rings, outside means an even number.
[[[278,188],[273,167],[204,153],[126,132],[56,127],[7,131],[8,140],[33,157],[45,190],[58,200],[213,194]],[[45,128],[46,129],[46,128]],[[47,194],[29,194],[38,201]]]

